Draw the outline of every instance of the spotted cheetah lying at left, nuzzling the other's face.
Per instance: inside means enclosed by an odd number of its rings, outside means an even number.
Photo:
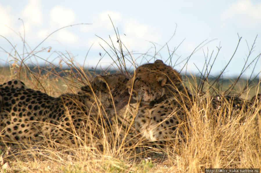
[[[0,88],[2,140],[75,144],[100,137],[111,128],[110,118],[129,100],[127,81],[123,74],[97,76],[77,94],[56,98],[29,89],[19,80],[9,81]]]

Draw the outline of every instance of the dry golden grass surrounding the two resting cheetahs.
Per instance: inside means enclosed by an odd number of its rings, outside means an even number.
[[[106,42],[111,47],[111,53],[108,50],[105,51],[107,55],[111,56],[114,65],[118,67],[116,69],[118,72],[130,75],[126,72],[128,69],[126,64],[131,62],[132,66],[136,66],[132,54],[121,43],[118,31],[116,37],[118,46],[113,45],[112,41],[111,43]],[[27,56],[29,55],[37,57],[35,50],[28,52],[28,54],[22,54],[21,57],[15,47],[13,48],[12,52],[15,53],[9,55],[14,61],[8,62],[5,67],[0,69],[0,84],[18,78],[28,87],[56,97],[64,92],[75,93],[80,86],[86,84],[87,80],[91,80],[93,75],[97,75],[75,65],[76,63],[70,58],[62,58],[60,65],[57,66],[51,66],[51,63],[49,63],[50,69],[43,73],[43,69],[39,65],[32,69],[24,61],[28,59]],[[46,51],[49,51],[48,48],[46,48]],[[251,51],[249,56],[250,54]],[[173,53],[170,53],[168,62],[171,61],[172,56]],[[140,57],[147,60],[153,59],[148,54],[142,54]],[[206,64],[210,64],[207,61],[210,61],[211,58],[206,58]],[[255,63],[256,60],[257,58],[253,58],[251,63]],[[214,62],[215,60],[213,64]],[[186,86],[192,93],[206,92],[206,95],[211,95],[226,91],[225,93],[238,93],[241,97],[242,95],[251,97],[254,93],[261,91],[259,90],[260,83],[250,85],[251,80],[247,81],[246,85],[241,86],[241,88],[238,87],[238,80],[232,82],[228,87],[222,87],[225,84],[208,78],[211,71],[209,69],[211,69],[212,65],[201,69],[201,78],[185,78]],[[69,67],[69,69],[64,70],[63,66]],[[63,77],[60,77],[61,72],[65,74]],[[106,74],[107,71],[103,73]],[[242,73],[244,73],[244,69]],[[258,87],[256,87],[257,85]],[[64,148],[33,145],[11,146],[10,148],[7,143],[1,142],[0,152],[3,162],[0,161],[0,164],[3,165],[3,163],[8,162],[10,165],[7,169],[1,167],[1,171],[202,172],[204,168],[261,168],[261,117],[258,112],[260,106],[254,112],[238,113],[227,124],[213,123],[211,121],[213,112],[209,108],[203,107],[200,103],[195,104],[192,110],[187,112],[190,119],[190,131],[186,134],[186,142],[172,143],[164,150],[155,152],[154,149],[150,149],[147,150],[147,153],[139,153],[135,151],[134,146],[128,148],[117,145],[108,146],[106,138],[102,139],[104,150],[98,150],[91,145],[84,144]],[[127,127],[130,127],[129,133],[133,129],[131,123],[135,117],[135,111],[137,110],[128,109],[118,114],[119,117],[123,117],[122,119],[127,121]],[[244,124],[240,124],[239,119],[243,116],[247,118]],[[122,127],[120,125],[119,128]],[[127,129],[125,126],[122,128]],[[154,154],[151,154],[150,151],[154,151]]]

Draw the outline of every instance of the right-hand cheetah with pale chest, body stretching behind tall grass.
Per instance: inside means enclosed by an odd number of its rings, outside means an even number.
[[[182,76],[175,69],[162,60],[141,65],[127,86],[132,97],[140,102],[134,119],[137,133],[158,144],[184,138],[184,133],[189,130],[188,112],[196,103],[196,98],[184,86]],[[225,103],[235,110],[251,104],[235,96],[213,96],[210,99],[213,110]],[[220,111],[228,112],[229,107]]]

